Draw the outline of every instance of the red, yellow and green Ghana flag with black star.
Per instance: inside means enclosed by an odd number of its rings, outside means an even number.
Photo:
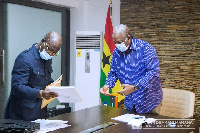
[[[104,86],[108,72],[110,71],[110,61],[112,59],[112,53],[115,49],[115,44],[112,38],[113,26],[110,18],[110,5],[108,7],[106,24],[105,24],[105,34],[104,34],[104,43],[103,43],[103,53],[102,53],[102,63],[101,63],[101,78],[100,78],[100,88]],[[122,90],[119,80],[117,80],[115,87],[110,90],[111,93],[116,93],[117,91]],[[110,96],[104,96],[100,94],[101,101],[106,102],[110,106]],[[118,96],[118,102],[124,99],[124,96]]]

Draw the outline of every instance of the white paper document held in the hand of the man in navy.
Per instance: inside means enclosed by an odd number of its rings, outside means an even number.
[[[75,103],[83,101],[74,86],[49,86],[50,91],[58,93],[60,103]]]

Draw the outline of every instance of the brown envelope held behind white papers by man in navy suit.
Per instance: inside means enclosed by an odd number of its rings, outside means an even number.
[[[62,75],[57,80],[55,80],[53,83],[51,83],[50,85],[46,86],[45,90],[48,90],[49,86],[60,86],[61,85],[61,80],[62,80]],[[42,99],[42,104],[41,104],[41,109],[44,108],[50,102],[52,102],[54,99],[56,99],[56,97],[50,98],[49,100],[43,98]]]

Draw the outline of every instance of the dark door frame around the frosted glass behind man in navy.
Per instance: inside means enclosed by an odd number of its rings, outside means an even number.
[[[38,9],[46,9],[51,11],[61,12],[62,14],[62,47],[61,47],[61,73],[62,76],[62,85],[68,86],[69,85],[69,75],[70,75],[70,9],[67,7],[62,7],[59,5],[47,4],[38,1],[32,0],[0,0],[0,58],[2,61],[2,50],[3,50],[3,4],[5,3],[12,3],[18,5],[24,5],[28,7],[34,7]],[[2,62],[0,62],[0,114],[2,112],[2,93],[3,93],[3,74],[2,74]],[[1,115],[0,115],[1,118]]]

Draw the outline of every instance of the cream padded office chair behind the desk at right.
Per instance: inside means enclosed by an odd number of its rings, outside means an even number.
[[[160,115],[174,118],[191,118],[194,112],[195,94],[186,90],[163,88]]]

